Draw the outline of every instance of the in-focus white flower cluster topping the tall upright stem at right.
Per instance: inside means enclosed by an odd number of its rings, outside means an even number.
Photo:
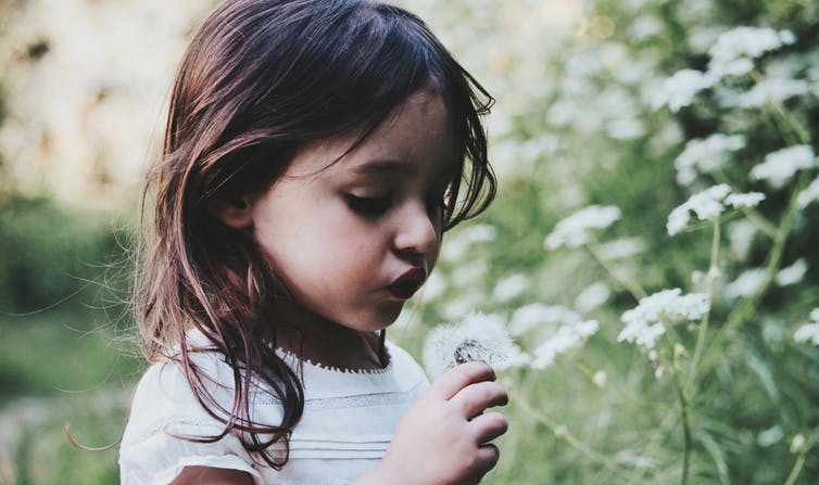
[[[711,220],[722,214],[726,206],[753,207],[765,200],[760,192],[731,194],[731,188],[724,183],[713,186],[692,195],[684,204],[668,215],[666,229],[675,235],[688,228],[693,212],[700,220]]]

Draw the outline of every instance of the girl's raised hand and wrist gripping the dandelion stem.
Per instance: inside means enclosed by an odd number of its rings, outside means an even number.
[[[497,447],[489,442],[508,427],[503,414],[483,413],[508,403],[494,379],[494,370],[483,362],[446,371],[401,420],[374,474],[381,483],[400,485],[480,482],[499,459]]]

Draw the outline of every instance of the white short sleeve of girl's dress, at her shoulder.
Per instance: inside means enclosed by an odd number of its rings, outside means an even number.
[[[215,357],[201,357],[206,359],[205,375],[215,375],[215,383],[232,382],[226,363]],[[202,359],[199,360],[201,365]],[[232,386],[214,385],[212,392],[223,406],[232,401]],[[249,473],[255,484],[261,484],[257,464],[234,434],[215,443],[196,443],[174,436],[209,437],[222,434],[223,430],[224,424],[202,407],[177,365],[152,365],[137,385],[123,434],[122,485],[168,484],[185,467],[192,465],[240,470]]]

